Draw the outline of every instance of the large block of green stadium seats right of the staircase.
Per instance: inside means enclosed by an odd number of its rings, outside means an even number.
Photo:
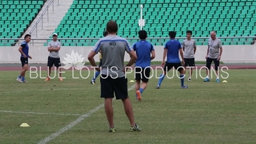
[[[140,4],[144,7],[143,19],[146,24],[143,29],[148,31],[148,37],[167,37],[167,31],[171,30],[177,31],[177,37],[184,37],[188,29],[193,31],[194,37],[208,37],[212,30],[217,31],[218,36],[255,35],[254,0],[74,0],[54,33],[58,33],[59,38],[100,38],[106,22],[112,19],[119,24],[118,35],[137,38]],[[244,44],[230,43],[231,39],[225,41],[228,41],[225,45]],[[62,44],[87,46],[95,42],[97,40],[66,40]],[[163,45],[156,39],[151,42]]]

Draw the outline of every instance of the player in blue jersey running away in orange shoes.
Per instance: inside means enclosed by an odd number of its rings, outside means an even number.
[[[156,57],[155,50],[150,42],[147,42],[147,31],[139,31],[140,41],[132,45],[132,49],[136,52],[137,60],[135,63],[135,92],[136,99],[141,101],[141,93],[147,87],[148,79],[150,77],[150,63]],[[151,56],[152,54],[152,56]],[[140,86],[140,82],[141,86]]]

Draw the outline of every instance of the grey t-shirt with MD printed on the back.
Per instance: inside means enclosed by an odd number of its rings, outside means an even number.
[[[93,47],[94,52],[101,51],[102,70],[101,74],[106,76],[124,77],[124,55],[125,51],[133,51],[131,45],[125,38],[117,35],[108,35],[100,40]]]

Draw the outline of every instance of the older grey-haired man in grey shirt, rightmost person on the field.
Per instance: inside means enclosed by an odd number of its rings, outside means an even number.
[[[221,40],[219,38],[216,38],[216,32],[212,31],[211,38],[209,38],[209,40],[208,40],[208,49],[207,49],[207,54],[205,56],[206,67],[207,67],[207,70],[206,70],[207,77],[204,79],[204,82],[210,81],[209,70],[211,69],[212,61],[214,62],[216,74],[218,75],[216,77],[216,82],[220,82],[218,72],[219,72],[219,68],[220,68],[221,54],[222,54]]]

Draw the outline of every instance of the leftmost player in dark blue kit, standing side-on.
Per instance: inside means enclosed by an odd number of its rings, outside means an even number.
[[[20,47],[19,47],[19,52],[21,54],[20,56],[20,61],[21,61],[21,65],[22,65],[22,70],[20,72],[20,76],[17,78],[17,81],[19,81],[20,83],[28,83],[27,81],[25,81],[25,73],[28,70],[28,58],[32,59],[31,56],[29,56],[28,52],[29,52],[29,47],[28,47],[28,43],[31,40],[31,35],[25,35],[25,41],[21,43]]]

